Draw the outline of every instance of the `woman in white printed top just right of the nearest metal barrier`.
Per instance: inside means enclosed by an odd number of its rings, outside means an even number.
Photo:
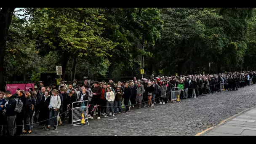
[[[113,116],[114,115],[114,100],[115,100],[115,93],[111,90],[111,88],[107,88],[106,92],[106,100],[107,100],[107,115],[104,117],[109,117],[110,109],[112,111]]]

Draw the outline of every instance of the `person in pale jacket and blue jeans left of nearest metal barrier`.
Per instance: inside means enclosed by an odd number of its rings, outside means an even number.
[[[57,129],[58,121],[57,121],[57,116],[59,113],[59,109],[61,107],[61,98],[58,95],[57,90],[52,90],[52,96],[50,99],[50,104],[49,104],[49,121],[48,121],[48,126],[45,128],[46,130],[49,130],[51,127],[51,120],[54,120],[54,128],[53,130]]]

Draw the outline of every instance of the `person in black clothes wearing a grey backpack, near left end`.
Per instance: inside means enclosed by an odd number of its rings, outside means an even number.
[[[17,112],[16,120],[15,120],[17,128],[16,128],[16,133],[14,135],[21,136],[27,99],[25,94],[21,90],[17,92],[17,96],[18,96],[16,98],[17,107],[15,109],[15,111]]]

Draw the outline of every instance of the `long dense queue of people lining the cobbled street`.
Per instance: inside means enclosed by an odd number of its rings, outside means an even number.
[[[53,130],[62,122],[72,123],[72,107],[81,107],[76,101],[88,101],[88,118],[115,116],[127,113],[131,107],[153,107],[173,101],[171,91],[179,91],[180,99],[195,98],[221,90],[235,91],[238,88],[256,83],[256,73],[232,72],[215,75],[157,76],[114,83],[109,80],[82,85],[75,79],[67,85],[64,80],[45,87],[40,82],[38,91],[29,88],[16,93],[0,92],[1,135],[21,136],[32,132],[33,123],[49,130],[52,121]],[[222,86],[221,86],[222,84]],[[14,129],[16,128],[16,133]]]

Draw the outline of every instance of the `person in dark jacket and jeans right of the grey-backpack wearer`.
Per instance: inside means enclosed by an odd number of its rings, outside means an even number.
[[[35,109],[35,101],[32,100],[29,92],[25,92],[26,96],[26,106],[25,106],[25,114],[24,114],[24,133],[31,133],[31,125],[30,125],[30,117],[33,115],[33,111]]]

